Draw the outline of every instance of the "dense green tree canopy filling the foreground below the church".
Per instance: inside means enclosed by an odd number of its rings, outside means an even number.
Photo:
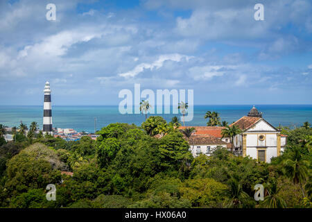
[[[309,126],[283,128],[288,146],[270,164],[225,148],[193,158],[176,126],[177,119],[167,124],[149,117],[141,127],[112,123],[96,141],[84,136],[77,142],[36,135],[36,123],[25,135],[20,126],[13,142],[1,140],[0,206],[311,207]],[[264,201],[254,200],[259,183]],[[56,186],[55,201],[46,200],[48,184]]]

